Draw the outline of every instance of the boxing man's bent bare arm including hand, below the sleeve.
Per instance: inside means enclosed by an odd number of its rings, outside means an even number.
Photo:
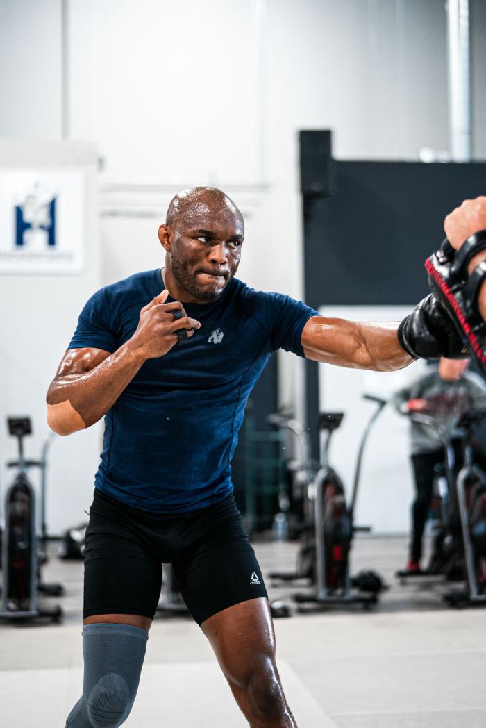
[[[167,295],[163,290],[143,307],[132,338],[113,354],[94,348],[65,352],[47,392],[47,424],[57,435],[98,422],[146,360],[163,357],[177,344],[178,329],[191,337],[200,327],[178,301],[166,304]]]

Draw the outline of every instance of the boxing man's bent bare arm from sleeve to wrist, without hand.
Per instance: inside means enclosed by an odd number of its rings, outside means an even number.
[[[90,427],[100,420],[145,361],[130,341],[100,363],[94,363],[94,367],[92,359],[87,359],[81,357],[73,371],[69,355],[65,357],[47,392],[47,422],[60,435]],[[64,374],[63,369],[71,373]]]

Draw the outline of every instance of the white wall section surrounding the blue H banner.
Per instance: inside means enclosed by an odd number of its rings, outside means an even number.
[[[0,275],[0,513],[5,486],[12,479],[5,461],[17,457],[17,443],[7,434],[7,416],[30,416],[33,435],[25,455],[39,459],[49,433],[46,392],[73,335],[79,309],[100,287],[97,245],[96,154],[93,146],[70,143],[12,143],[0,140],[0,168],[13,167],[84,173],[85,267],[79,274]],[[86,521],[84,508],[93,490],[100,453],[100,425],[55,438],[49,457],[47,524],[60,533]],[[39,471],[32,471],[39,483]],[[40,509],[39,509],[40,515]]]

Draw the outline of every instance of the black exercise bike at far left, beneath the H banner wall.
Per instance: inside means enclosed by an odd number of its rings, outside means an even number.
[[[41,467],[41,462],[24,459],[23,438],[31,434],[31,421],[28,417],[9,417],[9,434],[17,438],[18,459],[9,463],[17,467],[17,475],[5,496],[5,529],[3,534],[3,583],[1,589],[0,618],[9,620],[50,617],[60,622],[63,611],[60,606],[52,609],[39,606],[37,592],[40,590],[50,596],[58,596],[63,589],[60,585],[47,585],[41,581],[41,563],[47,561],[45,544],[45,518],[43,510],[43,537],[41,544],[44,553],[39,555],[36,526],[36,495],[28,479],[28,468]],[[47,448],[43,451],[43,472]],[[44,476],[44,494],[45,494]]]

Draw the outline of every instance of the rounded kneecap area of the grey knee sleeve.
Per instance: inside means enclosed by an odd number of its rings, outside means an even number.
[[[103,675],[87,697],[87,714],[93,728],[118,728],[127,720],[134,700],[135,693],[121,675]]]

